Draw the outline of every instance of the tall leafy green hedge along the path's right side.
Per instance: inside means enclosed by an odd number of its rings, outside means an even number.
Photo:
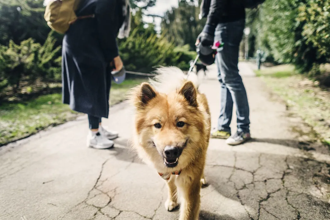
[[[319,73],[317,66],[329,62],[329,12],[329,1],[268,0],[248,12],[247,25],[257,47],[275,62]]]

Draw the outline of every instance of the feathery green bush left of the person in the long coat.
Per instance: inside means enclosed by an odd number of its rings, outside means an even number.
[[[17,93],[22,82],[33,85],[37,79],[60,80],[61,47],[54,48],[55,41],[50,32],[44,45],[29,38],[19,45],[11,40],[8,47],[0,46],[0,92],[12,88],[12,92]]]

